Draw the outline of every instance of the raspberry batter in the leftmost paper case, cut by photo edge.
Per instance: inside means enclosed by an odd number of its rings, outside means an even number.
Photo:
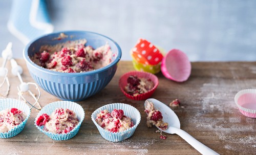
[[[0,112],[0,132],[8,132],[26,119],[27,115],[17,108]]]

